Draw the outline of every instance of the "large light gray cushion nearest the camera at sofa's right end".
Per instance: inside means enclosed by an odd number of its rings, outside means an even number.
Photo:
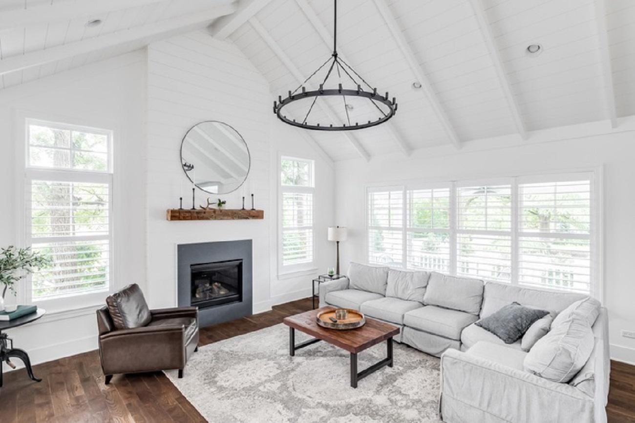
[[[552,382],[568,383],[591,356],[595,338],[586,320],[572,316],[538,339],[523,367]]]

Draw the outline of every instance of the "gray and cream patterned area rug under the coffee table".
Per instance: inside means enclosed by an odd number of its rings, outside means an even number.
[[[296,342],[309,339],[296,331]],[[199,348],[170,381],[210,422],[436,422],[439,359],[394,344],[394,367],[350,386],[349,353],[318,342],[289,356],[279,324]],[[363,370],[385,342],[359,353]]]

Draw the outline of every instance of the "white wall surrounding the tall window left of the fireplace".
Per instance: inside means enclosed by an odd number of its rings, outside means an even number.
[[[145,51],[137,51],[0,91],[0,245],[23,245],[21,211],[11,205],[23,165],[23,117],[114,130],[114,255],[116,286],[145,285]],[[18,121],[19,120],[19,121]],[[9,294],[8,294],[9,295]],[[18,296],[18,299],[20,297]],[[42,304],[40,304],[42,305]],[[97,306],[51,313],[8,331],[35,363],[97,348]],[[17,361],[20,363],[20,361]],[[6,369],[6,366],[5,366]]]

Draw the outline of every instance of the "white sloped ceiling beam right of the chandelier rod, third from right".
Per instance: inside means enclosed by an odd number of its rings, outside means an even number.
[[[425,97],[432,106],[432,110],[434,110],[434,114],[436,114],[437,119],[439,119],[439,122],[441,122],[446,135],[448,136],[448,138],[450,138],[451,143],[456,148],[461,148],[461,141],[458,138],[457,131],[455,131],[450,122],[450,117],[443,109],[443,106],[441,106],[441,102],[439,101],[436,93],[434,93],[434,88],[432,88],[431,82],[429,81],[428,77],[425,76],[425,72],[421,65],[418,63],[417,58],[415,57],[415,53],[413,53],[410,46],[408,46],[408,41],[406,41],[406,38],[403,36],[403,33],[401,32],[396,19],[392,15],[391,10],[388,8],[387,4],[385,4],[384,0],[374,1],[375,6],[377,6],[377,10],[379,11],[382,18],[384,18],[384,22],[391,32],[392,38],[401,50],[401,54],[406,59],[406,62],[408,62],[410,70],[415,75],[417,81],[420,82],[421,89],[424,91]]]

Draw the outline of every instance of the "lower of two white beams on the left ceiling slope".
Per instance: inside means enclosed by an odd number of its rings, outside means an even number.
[[[203,29],[211,20],[219,16],[229,15],[233,11],[234,6],[227,4],[225,6],[200,11],[193,15],[150,23],[142,27],[121,30],[84,41],[69,42],[69,44],[33,51],[25,55],[11,56],[0,60],[0,75],[8,74],[15,70],[43,65],[44,63],[56,62],[57,60],[90,53],[91,51],[127,44],[129,42],[140,40],[147,40],[148,42],[156,41],[157,39],[191,32],[192,30]]]

